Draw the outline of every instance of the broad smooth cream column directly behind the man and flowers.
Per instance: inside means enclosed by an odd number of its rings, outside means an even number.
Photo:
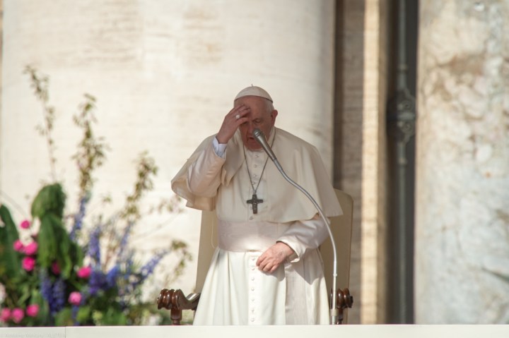
[[[52,179],[45,140],[35,131],[43,117],[23,74],[27,65],[49,76],[54,176],[72,210],[71,156],[80,138],[72,116],[84,93],[97,99],[95,132],[110,145],[94,176],[94,210],[107,213],[99,202],[106,193],[122,205],[144,150],[159,167],[147,203],[171,197],[172,177],[251,84],[271,93],[276,125],[314,144],[332,171],[334,6],[334,0],[4,0],[1,201],[16,201],[16,219],[26,217],[41,183]],[[189,243],[197,257],[199,213],[152,218],[139,234],[140,250],[164,248],[173,238]],[[189,286],[185,292],[192,291],[195,262],[181,284]]]

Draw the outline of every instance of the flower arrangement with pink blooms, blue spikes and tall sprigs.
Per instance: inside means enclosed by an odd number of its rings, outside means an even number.
[[[52,149],[54,109],[48,104],[47,77],[27,67],[35,95],[42,102],[45,136],[54,173]],[[141,264],[129,246],[132,230],[142,220],[140,201],[153,188],[157,168],[142,153],[137,162],[134,191],[110,217],[86,217],[93,191],[93,171],[105,159],[106,145],[93,129],[95,99],[85,95],[74,116],[83,139],[73,159],[79,170],[77,211],[65,214],[66,194],[58,182],[43,186],[35,196],[30,219],[16,226],[6,205],[0,205],[0,325],[139,325],[156,303],[145,302],[142,286],[166,255],[176,255],[173,276],[191,259],[187,245],[172,241],[164,251]],[[56,179],[54,179],[56,181]],[[107,203],[108,199],[101,203]],[[175,212],[177,200],[163,201],[157,210]],[[3,296],[2,296],[3,294]]]

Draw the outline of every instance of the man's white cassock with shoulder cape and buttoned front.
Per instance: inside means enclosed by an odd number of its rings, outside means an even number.
[[[329,324],[317,249],[328,231],[314,205],[267,162],[263,150],[245,149],[239,132],[223,157],[213,148],[214,137],[201,143],[172,180],[172,189],[187,206],[215,209],[218,216],[218,248],[194,325]],[[342,214],[315,147],[279,128],[273,128],[269,143],[286,174],[317,200],[327,217]],[[253,186],[263,200],[257,213],[247,203]],[[271,274],[258,270],[259,255],[276,241],[295,254]]]

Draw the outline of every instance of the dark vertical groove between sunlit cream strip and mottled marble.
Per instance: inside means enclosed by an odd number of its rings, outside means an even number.
[[[419,1],[393,0],[387,95],[387,323],[414,322],[416,51]],[[412,127],[412,128],[410,128]]]

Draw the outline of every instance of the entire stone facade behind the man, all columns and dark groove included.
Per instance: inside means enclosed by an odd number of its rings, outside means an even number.
[[[142,207],[171,199],[170,180],[233,97],[259,85],[276,126],[315,145],[353,197],[349,323],[509,322],[508,1],[0,6],[0,201],[16,219],[51,181],[76,209],[73,116],[85,94],[107,144],[89,209],[107,213],[130,193],[144,151],[158,173]],[[46,106],[27,66],[48,78]],[[37,130],[49,106],[50,146]],[[173,239],[194,256],[172,285],[165,258],[149,297],[194,286],[200,214],[177,209],[148,215],[131,237],[141,256]]]

